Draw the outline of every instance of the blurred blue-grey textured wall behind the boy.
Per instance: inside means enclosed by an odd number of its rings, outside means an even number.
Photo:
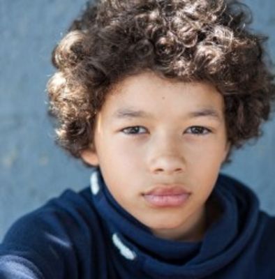
[[[86,0],[0,0],[0,241],[22,214],[65,188],[89,183],[89,169],[53,143],[46,114],[45,84],[50,53]],[[275,60],[275,2],[246,0],[255,30],[270,36]],[[275,119],[256,145],[237,151],[223,169],[258,193],[262,208],[275,214]]]

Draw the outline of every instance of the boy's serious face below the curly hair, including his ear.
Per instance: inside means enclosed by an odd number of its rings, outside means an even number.
[[[207,83],[147,72],[122,81],[98,113],[94,147],[119,204],[163,238],[195,240],[229,144],[223,97]]]

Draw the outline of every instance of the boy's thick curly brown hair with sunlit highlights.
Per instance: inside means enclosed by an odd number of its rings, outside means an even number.
[[[96,112],[112,86],[144,70],[214,84],[225,101],[231,149],[259,137],[275,85],[264,55],[267,37],[253,33],[251,21],[250,10],[238,1],[87,3],[52,52],[57,72],[47,91],[57,143],[80,158],[92,144]]]

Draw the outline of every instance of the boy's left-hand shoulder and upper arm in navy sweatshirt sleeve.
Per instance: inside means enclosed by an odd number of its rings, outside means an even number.
[[[98,241],[100,231],[100,220],[89,198],[89,188],[79,193],[65,190],[19,218],[0,245],[0,269],[7,264],[29,272],[37,269],[46,278],[64,278],[65,270],[77,272],[77,258],[89,257],[87,246]],[[53,264],[59,266],[54,275]]]

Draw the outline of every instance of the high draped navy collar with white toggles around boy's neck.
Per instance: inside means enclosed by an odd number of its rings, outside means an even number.
[[[202,241],[160,239],[125,211],[107,189],[99,168],[91,174],[96,211],[104,220],[114,246],[131,266],[150,278],[204,278],[231,262],[244,250],[258,218],[258,199],[246,186],[220,174],[211,193],[223,215]]]

